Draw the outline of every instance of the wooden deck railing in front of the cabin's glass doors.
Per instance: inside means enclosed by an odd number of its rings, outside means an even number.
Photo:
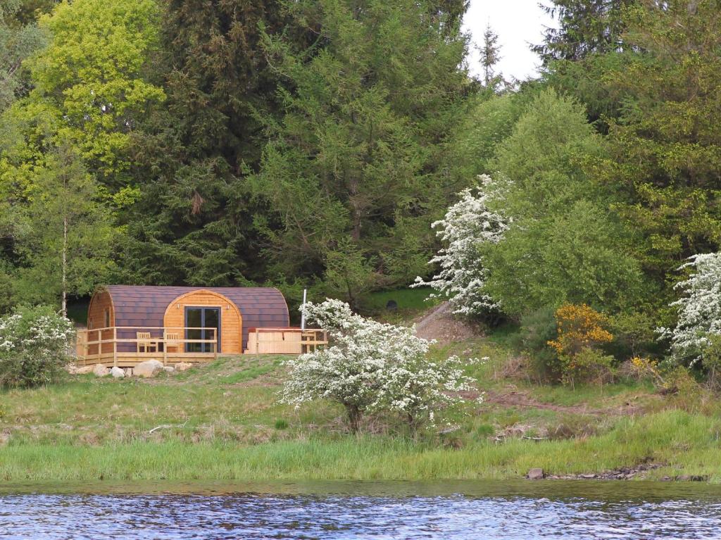
[[[187,339],[187,330],[205,331],[211,335],[209,339]],[[138,338],[138,333],[147,333],[150,337]],[[217,329],[215,327],[106,327],[84,329],[77,332],[76,353],[78,363],[110,363],[118,366],[118,362],[128,358],[143,359],[212,359],[218,358]],[[172,336],[171,336],[172,335]],[[175,336],[177,335],[177,337]],[[201,334],[202,335],[202,334]],[[189,343],[200,344],[205,352],[186,352]],[[151,350],[154,349],[154,350]]]

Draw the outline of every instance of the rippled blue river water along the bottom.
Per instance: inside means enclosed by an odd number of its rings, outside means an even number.
[[[720,539],[721,487],[624,481],[0,484],[0,539]]]

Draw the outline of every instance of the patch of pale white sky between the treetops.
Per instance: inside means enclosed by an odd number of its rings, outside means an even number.
[[[550,2],[544,1],[544,4]],[[490,23],[498,35],[501,60],[497,71],[505,79],[527,79],[538,74],[538,56],[528,47],[543,40],[545,27],[554,26],[539,6],[539,0],[471,0],[464,18],[464,30],[471,32],[477,45],[483,44],[483,32]],[[480,74],[479,54],[472,50],[469,67],[473,74]]]

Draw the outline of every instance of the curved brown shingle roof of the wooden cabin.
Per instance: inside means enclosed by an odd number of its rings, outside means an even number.
[[[149,285],[110,285],[118,327],[162,327],[167,306],[178,296],[193,291],[213,291],[229,298],[243,318],[245,348],[248,329],[253,327],[287,327],[290,324],[288,304],[283,293],[271,287],[165,287]]]

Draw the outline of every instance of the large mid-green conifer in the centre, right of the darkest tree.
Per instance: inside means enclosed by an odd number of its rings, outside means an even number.
[[[329,272],[334,283],[332,253],[348,257],[348,298],[427,271],[429,225],[451,195],[446,139],[470,91],[459,19],[428,19],[425,2],[361,4],[289,4],[293,27],[320,29],[310,48],[267,35],[283,117],[269,122],[252,177],[272,210],[257,221],[267,257],[286,275]]]

